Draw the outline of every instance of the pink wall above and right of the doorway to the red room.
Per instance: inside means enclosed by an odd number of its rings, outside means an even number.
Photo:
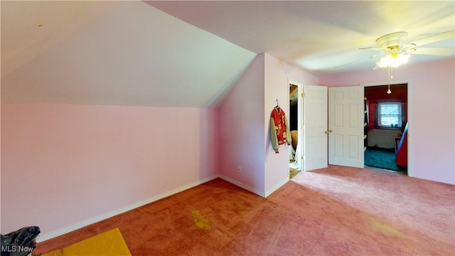
[[[410,137],[412,176],[455,184],[455,60],[404,65],[395,68],[393,81],[407,80],[412,87]],[[348,86],[387,83],[387,70],[332,75],[320,85]],[[393,87],[392,87],[393,88]]]

